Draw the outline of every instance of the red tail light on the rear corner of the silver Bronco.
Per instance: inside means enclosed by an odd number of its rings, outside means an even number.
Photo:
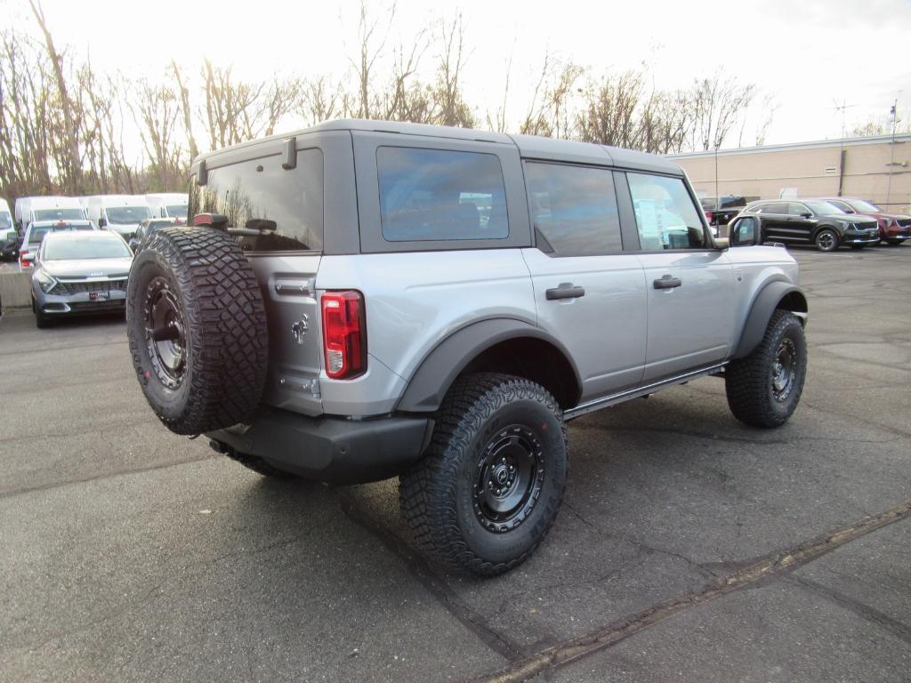
[[[333,380],[350,380],[366,371],[366,332],[361,292],[322,295],[322,349],[326,374]]]

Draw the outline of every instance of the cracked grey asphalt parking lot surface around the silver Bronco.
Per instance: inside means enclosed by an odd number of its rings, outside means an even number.
[[[911,246],[793,253],[791,422],[712,378],[578,419],[557,524],[490,580],[413,552],[393,482],[169,433],[122,321],[5,314],[0,680],[907,681]]]

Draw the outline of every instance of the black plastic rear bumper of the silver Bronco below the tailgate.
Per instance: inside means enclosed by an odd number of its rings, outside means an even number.
[[[363,484],[404,472],[423,453],[433,424],[420,416],[348,420],[262,406],[251,424],[206,435],[222,453],[256,455],[283,470],[331,484]]]

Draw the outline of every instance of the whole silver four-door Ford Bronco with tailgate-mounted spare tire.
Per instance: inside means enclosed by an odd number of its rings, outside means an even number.
[[[703,375],[776,427],[807,303],[681,168],[550,138],[334,121],[203,155],[145,242],[128,338],[171,431],[267,476],[399,477],[415,542],[491,576],[541,543],[566,423]]]

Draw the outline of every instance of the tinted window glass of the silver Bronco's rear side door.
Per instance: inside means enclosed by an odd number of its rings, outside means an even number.
[[[558,256],[622,250],[609,169],[528,162],[526,181],[540,250]]]

